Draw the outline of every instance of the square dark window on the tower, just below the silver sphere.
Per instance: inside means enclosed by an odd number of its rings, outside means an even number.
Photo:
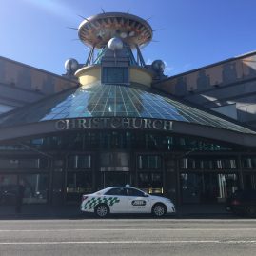
[[[128,68],[127,67],[103,67],[102,83],[128,84]]]

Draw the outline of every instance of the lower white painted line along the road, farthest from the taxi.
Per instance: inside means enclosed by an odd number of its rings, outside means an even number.
[[[0,242],[1,245],[74,245],[74,244],[256,244],[256,240],[160,240],[160,241],[56,241],[56,242]]]

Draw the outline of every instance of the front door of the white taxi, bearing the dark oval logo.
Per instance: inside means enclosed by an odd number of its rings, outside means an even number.
[[[149,213],[151,212],[150,196],[136,188],[127,188],[128,212]]]

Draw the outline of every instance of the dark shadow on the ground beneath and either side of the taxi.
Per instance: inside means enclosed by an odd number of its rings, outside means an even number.
[[[150,214],[111,214],[108,219],[152,219]],[[2,220],[30,220],[30,219],[97,219],[93,214],[80,211],[79,205],[66,205],[49,207],[47,205],[24,205],[21,213],[15,213],[14,206],[0,206],[0,219]],[[229,212],[224,206],[186,205],[177,207],[175,214],[162,219],[243,219]]]

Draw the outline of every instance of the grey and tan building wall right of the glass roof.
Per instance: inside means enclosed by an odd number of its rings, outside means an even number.
[[[169,77],[154,87],[256,128],[256,51]]]

